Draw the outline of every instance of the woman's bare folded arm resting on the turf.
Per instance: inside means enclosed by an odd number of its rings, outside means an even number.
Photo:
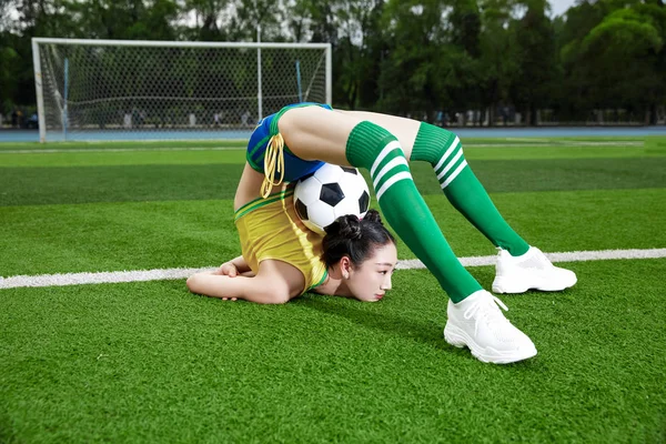
[[[300,295],[305,285],[303,273],[282,261],[265,260],[254,278],[198,273],[188,279],[192,293],[212,297],[243,299],[260,304],[283,304]]]

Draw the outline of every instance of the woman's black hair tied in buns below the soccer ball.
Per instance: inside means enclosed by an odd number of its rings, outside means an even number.
[[[369,210],[361,220],[354,214],[343,215],[326,226],[323,260],[330,268],[349,256],[354,266],[361,266],[377,248],[389,243],[395,244],[395,239],[376,210]]]

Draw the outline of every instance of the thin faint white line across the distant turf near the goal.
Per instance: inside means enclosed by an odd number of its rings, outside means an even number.
[[[644,142],[589,142],[589,141],[551,141],[551,142],[541,142],[541,141],[528,141],[525,143],[526,139],[521,139],[523,143],[516,145],[514,144],[504,144],[504,143],[465,143],[465,147],[468,148],[524,148],[524,147],[561,147],[561,145],[572,145],[572,147],[643,147]],[[91,149],[43,149],[43,150],[0,150],[0,154],[52,154],[52,153],[108,153],[108,152],[163,152],[163,151],[242,151],[244,148],[242,147],[183,147],[183,148],[174,148],[174,147],[165,147],[165,148],[91,148]]]

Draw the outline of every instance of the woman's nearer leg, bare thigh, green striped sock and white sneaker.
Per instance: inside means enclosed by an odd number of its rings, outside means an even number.
[[[468,346],[484,362],[516,362],[536,354],[529,337],[504,317],[501,302],[481,287],[451,251],[392,133],[361,115],[315,107],[285,112],[279,125],[286,145],[300,158],[370,171],[384,216],[451,297],[444,330],[450,344]],[[412,123],[394,127],[392,131],[402,135]]]

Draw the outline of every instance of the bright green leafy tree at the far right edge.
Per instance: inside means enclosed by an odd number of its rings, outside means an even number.
[[[577,21],[587,18],[591,26],[562,50],[568,74],[579,84],[581,103],[652,111],[647,120],[654,121],[656,104],[665,98],[664,8],[639,2],[620,8],[605,1],[582,6],[574,17]]]

